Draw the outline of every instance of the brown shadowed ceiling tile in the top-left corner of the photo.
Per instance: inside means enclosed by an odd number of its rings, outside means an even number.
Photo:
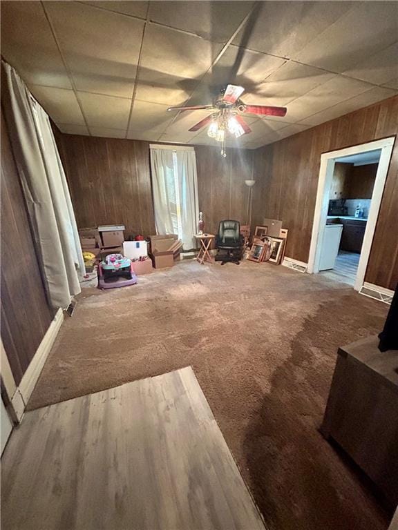
[[[72,88],[41,2],[2,1],[1,55],[30,84]]]

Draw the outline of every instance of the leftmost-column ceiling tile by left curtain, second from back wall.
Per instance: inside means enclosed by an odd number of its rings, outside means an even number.
[[[30,85],[29,90],[55,123],[84,125],[84,117],[73,90],[35,85]]]

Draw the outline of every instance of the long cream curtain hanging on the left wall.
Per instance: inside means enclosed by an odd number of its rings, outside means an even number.
[[[1,61],[2,96],[48,301],[66,308],[80,293],[84,261],[50,120],[17,72]],[[22,250],[22,249],[21,249]]]

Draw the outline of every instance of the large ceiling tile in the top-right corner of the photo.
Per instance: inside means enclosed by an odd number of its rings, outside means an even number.
[[[327,2],[330,4],[333,2]],[[325,6],[325,2],[319,2]],[[345,72],[397,41],[398,2],[357,2],[344,17],[292,55],[301,63]]]

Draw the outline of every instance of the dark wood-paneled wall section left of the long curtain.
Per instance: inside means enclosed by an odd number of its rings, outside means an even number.
[[[1,340],[17,384],[52,320],[1,112]]]

